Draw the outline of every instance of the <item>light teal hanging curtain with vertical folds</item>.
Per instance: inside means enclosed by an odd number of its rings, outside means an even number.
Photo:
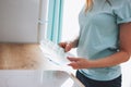
[[[47,38],[55,44],[61,39],[63,0],[49,0]]]

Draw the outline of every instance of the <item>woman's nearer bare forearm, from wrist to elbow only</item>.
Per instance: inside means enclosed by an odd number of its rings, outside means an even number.
[[[114,66],[127,62],[129,59],[130,54],[128,52],[120,51],[103,59],[91,60],[87,67]]]

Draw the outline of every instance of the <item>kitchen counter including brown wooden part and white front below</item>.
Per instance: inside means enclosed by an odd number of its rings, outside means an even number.
[[[74,70],[47,59],[39,46],[0,44],[0,87],[83,87]]]

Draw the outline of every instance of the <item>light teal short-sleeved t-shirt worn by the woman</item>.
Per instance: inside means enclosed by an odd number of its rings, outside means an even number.
[[[95,60],[119,51],[119,24],[131,22],[131,0],[105,1],[93,0],[91,11],[85,13],[84,7],[80,12],[79,57]],[[110,80],[121,74],[120,65],[79,71],[97,80]]]

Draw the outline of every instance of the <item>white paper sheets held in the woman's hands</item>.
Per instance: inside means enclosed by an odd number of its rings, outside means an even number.
[[[64,49],[47,39],[40,42],[40,49],[43,50],[45,58],[57,65],[67,65],[70,63],[67,57],[74,57],[70,52],[64,52]]]

